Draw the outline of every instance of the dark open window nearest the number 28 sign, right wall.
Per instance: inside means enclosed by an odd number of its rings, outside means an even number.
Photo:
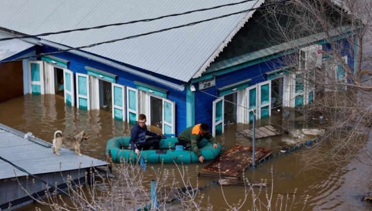
[[[224,96],[224,125],[232,125],[237,122],[237,92]]]

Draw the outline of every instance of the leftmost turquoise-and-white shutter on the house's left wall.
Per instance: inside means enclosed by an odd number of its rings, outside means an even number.
[[[32,94],[44,94],[43,61],[28,61],[29,90]]]

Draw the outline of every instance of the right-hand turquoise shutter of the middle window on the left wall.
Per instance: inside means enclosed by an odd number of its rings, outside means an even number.
[[[113,118],[125,121],[125,86],[112,83],[111,87]]]

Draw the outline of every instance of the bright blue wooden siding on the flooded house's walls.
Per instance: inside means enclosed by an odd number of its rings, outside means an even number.
[[[354,55],[352,55],[353,53],[349,51],[349,48],[350,47],[354,48],[354,46],[353,44],[347,43],[346,40],[340,41],[340,43],[342,43],[342,45],[345,47],[343,56],[345,55],[347,56],[348,64],[352,67]],[[44,52],[44,53],[54,52],[57,50],[57,49],[54,49],[48,46],[43,46],[43,47],[38,47],[38,48],[39,48],[39,52]],[[329,44],[323,45],[323,50],[326,50],[327,48],[330,48]],[[136,84],[134,84],[133,81],[137,80],[143,83],[153,84],[157,87],[169,90],[169,92],[167,93],[167,98],[169,100],[175,101],[175,115],[176,115],[175,116],[175,122],[176,122],[175,134],[179,134],[183,129],[186,128],[187,126],[187,90],[186,88],[183,91],[177,91],[167,86],[164,86],[162,84],[154,83],[153,81],[147,80],[145,78],[140,78],[134,74],[127,73],[125,71],[116,69],[114,67],[102,64],[100,62],[92,61],[87,58],[71,54],[69,52],[60,53],[57,55],[57,57],[70,61],[70,63],[68,64],[68,69],[70,69],[74,73],[87,74],[87,71],[84,68],[84,66],[88,65],[88,66],[118,75],[118,79],[116,81],[118,84],[136,88]],[[264,73],[272,71],[280,67],[281,66],[280,59],[281,58],[277,58],[273,60],[262,59],[261,63],[252,63],[252,65],[243,67],[236,71],[229,72],[223,75],[218,75],[216,77],[216,86],[203,90],[203,91],[208,92],[212,95],[219,95],[217,88],[221,88],[223,86],[233,84],[233,83],[245,80],[245,79],[251,79],[251,81],[249,82],[249,86],[265,81],[267,80],[267,76]],[[145,72],[145,73],[149,73],[149,71],[136,68],[131,65],[127,65],[127,66],[130,68]],[[159,77],[159,78],[166,79],[174,83],[182,84],[182,82],[166,77],[166,76],[162,76],[162,75],[155,74],[155,73],[152,73],[152,75]],[[198,83],[194,83],[194,86],[198,87]],[[211,95],[205,94],[200,91],[196,91],[194,95],[195,95],[195,124],[206,122],[211,126],[211,131],[212,131],[212,112],[213,112],[212,102],[216,99],[216,97],[213,97]]]

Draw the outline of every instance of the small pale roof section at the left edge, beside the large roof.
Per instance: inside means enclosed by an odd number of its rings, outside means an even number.
[[[0,39],[8,38],[9,35],[0,32]],[[9,58],[17,53],[33,47],[34,44],[24,42],[22,40],[6,40],[0,41],[0,61]]]

